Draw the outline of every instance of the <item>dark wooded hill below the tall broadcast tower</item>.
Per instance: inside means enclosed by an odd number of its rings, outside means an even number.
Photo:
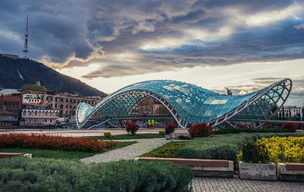
[[[20,78],[17,70],[24,80]],[[20,89],[24,84],[32,84],[37,81],[58,93],[69,92],[82,96],[106,97],[104,92],[78,79],[58,73],[43,63],[30,59],[11,59],[0,55],[0,86]]]

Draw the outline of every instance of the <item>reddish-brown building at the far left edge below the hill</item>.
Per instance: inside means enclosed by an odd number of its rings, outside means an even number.
[[[0,91],[0,129],[19,125],[22,97],[15,89]]]

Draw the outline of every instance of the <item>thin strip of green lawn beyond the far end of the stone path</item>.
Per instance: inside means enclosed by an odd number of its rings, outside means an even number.
[[[118,140],[118,139],[151,139],[151,138],[165,138],[164,135],[159,134],[125,134],[125,135],[113,135],[110,138],[104,136],[92,136],[91,139],[100,139],[100,140]]]

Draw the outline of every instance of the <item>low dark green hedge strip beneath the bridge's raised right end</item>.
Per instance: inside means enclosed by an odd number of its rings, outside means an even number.
[[[213,134],[237,134],[237,133],[287,133],[286,129],[269,128],[269,129],[240,129],[234,127],[222,128],[213,131]]]

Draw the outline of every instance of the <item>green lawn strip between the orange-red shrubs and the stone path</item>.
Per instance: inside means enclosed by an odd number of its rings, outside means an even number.
[[[125,147],[128,145],[132,145],[136,142],[134,141],[128,141],[128,142],[118,142],[115,147],[112,147],[110,149],[105,149],[105,151],[110,151],[113,149],[118,149],[121,147]],[[80,151],[57,151],[57,150],[48,150],[48,149],[23,149],[23,148],[1,148],[0,152],[21,152],[21,153],[31,153],[32,157],[43,157],[43,158],[56,158],[56,159],[71,159],[71,160],[78,160],[81,158],[85,158],[88,156],[93,156],[93,152],[80,152]]]

